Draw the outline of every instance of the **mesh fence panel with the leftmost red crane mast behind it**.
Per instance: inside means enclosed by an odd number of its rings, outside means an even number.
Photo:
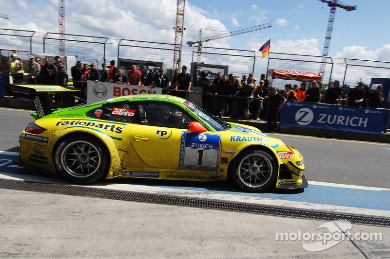
[[[103,63],[106,52],[105,37],[65,34],[65,54],[75,56],[76,60],[86,63],[96,63],[97,67]],[[47,33],[43,37],[43,52],[59,55],[59,34]]]

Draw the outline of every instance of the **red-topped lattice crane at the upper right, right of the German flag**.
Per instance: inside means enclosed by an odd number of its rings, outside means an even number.
[[[343,8],[348,12],[356,10],[357,6],[345,5],[338,0],[319,0],[323,3],[327,3],[331,7],[331,13],[329,14],[328,28],[325,35],[324,50],[322,51],[322,61],[320,66],[320,73],[324,74],[326,67],[326,57],[329,53],[329,46],[331,45],[331,37],[333,30],[334,16],[336,15],[336,7]]]

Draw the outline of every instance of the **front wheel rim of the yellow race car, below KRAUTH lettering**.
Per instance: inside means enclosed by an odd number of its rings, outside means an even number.
[[[271,160],[263,154],[245,156],[238,165],[238,177],[246,186],[257,188],[265,185],[273,174]]]

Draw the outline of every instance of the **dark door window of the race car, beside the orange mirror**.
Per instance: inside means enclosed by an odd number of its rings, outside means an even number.
[[[163,102],[137,103],[140,124],[188,129],[195,119],[175,104]]]

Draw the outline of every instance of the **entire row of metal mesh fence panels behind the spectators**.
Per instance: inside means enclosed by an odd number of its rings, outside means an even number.
[[[6,61],[11,52],[18,53],[26,65],[28,55],[32,51],[32,38],[39,37],[34,31],[0,29],[0,55],[1,65],[7,71]],[[36,41],[36,40],[35,40]],[[98,67],[106,57],[106,44],[108,38],[85,35],[65,34],[65,54],[75,56],[77,60],[87,63],[97,63]],[[117,57],[132,60],[148,60],[163,62],[167,68],[171,68],[174,58],[174,46],[170,43],[146,42],[128,39],[113,40],[117,45]],[[34,43],[34,47],[42,43]],[[56,33],[47,33],[43,37],[43,53],[58,55],[60,37]],[[40,52],[39,50],[37,52]],[[229,73],[236,76],[254,72],[255,65],[254,51],[222,49],[212,47],[194,46],[191,50],[183,50],[181,54],[182,64],[190,65],[191,59],[195,63],[214,64],[229,66]],[[273,53],[268,55],[267,69],[299,70],[306,72],[319,72],[322,56],[298,55],[287,53]],[[5,64],[5,65],[4,65]],[[370,61],[361,59],[332,59],[326,57],[326,67],[322,82],[330,84],[334,80],[343,82],[348,88],[356,86],[357,81],[370,83],[371,78],[390,78],[390,62]],[[278,83],[280,82],[280,83]],[[273,84],[282,87],[286,84],[284,80],[274,80]],[[298,82],[297,82],[298,83]],[[299,83],[298,83],[299,84]]]

